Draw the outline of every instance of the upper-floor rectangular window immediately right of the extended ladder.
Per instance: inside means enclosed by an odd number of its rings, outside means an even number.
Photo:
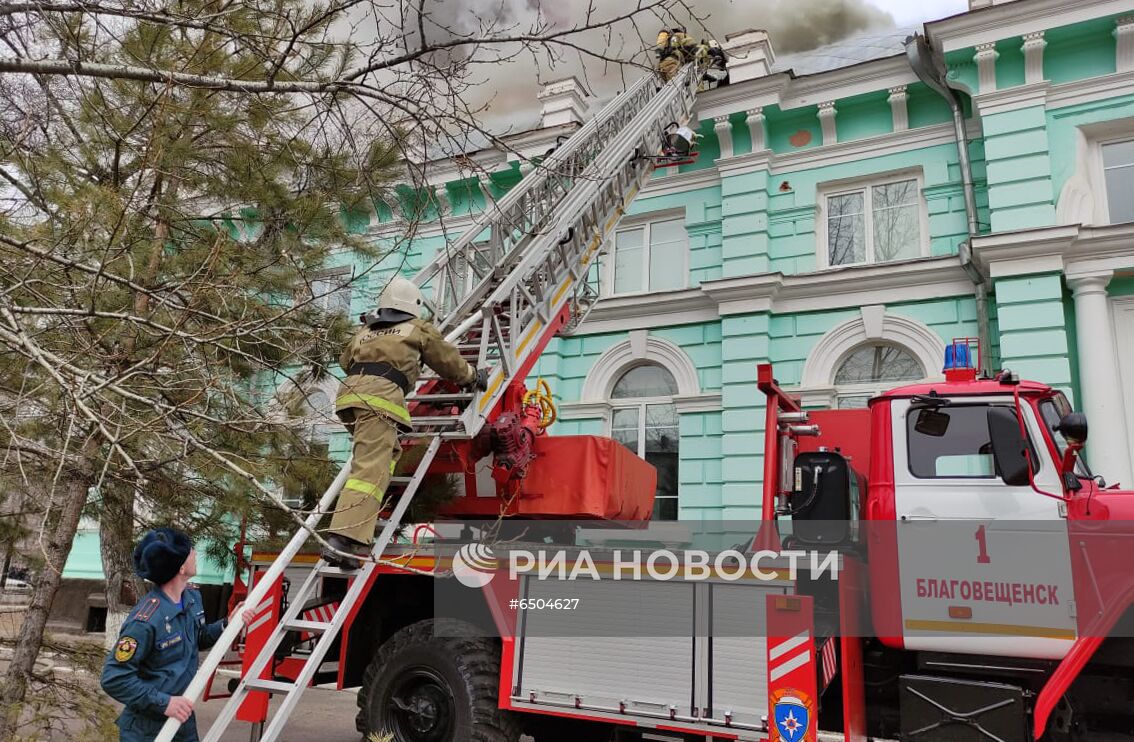
[[[684,219],[652,221],[615,235],[615,294],[668,292],[686,286],[688,237]]]

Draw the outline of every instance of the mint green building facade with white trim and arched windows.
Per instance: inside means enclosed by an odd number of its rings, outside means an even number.
[[[612,435],[658,465],[660,517],[759,517],[759,363],[809,407],[942,378],[946,344],[980,330],[963,244],[992,368],[1064,389],[1091,421],[1093,469],[1134,484],[1134,0],[971,5],[919,31],[960,93],[973,239],[949,106],[906,59],[913,29],[780,59],[763,32],[726,42],[733,82],[699,96],[699,160],[634,201],[601,259],[604,298],[533,373],[559,403],[552,433]],[[573,79],[541,100],[510,151],[469,155],[479,177],[467,159],[428,163],[429,193],[400,195],[445,218],[407,259],[355,267],[366,283],[336,301],[366,309],[591,112]],[[359,228],[392,241],[404,205]],[[345,449],[325,411],[319,424]]]

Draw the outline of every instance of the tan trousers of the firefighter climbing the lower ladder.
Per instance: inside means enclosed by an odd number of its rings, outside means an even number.
[[[398,429],[389,418],[371,410],[339,411],[350,433],[354,452],[350,477],[339,492],[330,532],[370,545],[382,509],[382,497],[401,455]]]

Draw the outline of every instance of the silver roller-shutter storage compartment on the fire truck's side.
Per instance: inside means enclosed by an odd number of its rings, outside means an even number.
[[[603,572],[601,558],[598,568]],[[569,560],[568,560],[569,563]],[[762,730],[767,596],[787,580],[739,582],[524,576],[519,597],[577,599],[522,609],[513,695],[521,706]]]

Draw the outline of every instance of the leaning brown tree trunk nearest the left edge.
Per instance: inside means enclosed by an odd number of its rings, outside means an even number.
[[[92,455],[96,450],[94,440],[84,446],[84,454]],[[86,458],[90,461],[90,458]],[[86,505],[86,496],[92,484],[90,471],[76,472],[65,484],[56,490],[52,497],[52,511],[56,516],[44,523],[44,556],[46,563],[43,571],[34,580],[32,602],[24,615],[19,627],[11,664],[0,678],[0,740],[15,737],[27,694],[28,680],[35,660],[40,655],[44,627],[51,604],[62,582],[64,565],[70,555],[78,530],[79,517]]]

